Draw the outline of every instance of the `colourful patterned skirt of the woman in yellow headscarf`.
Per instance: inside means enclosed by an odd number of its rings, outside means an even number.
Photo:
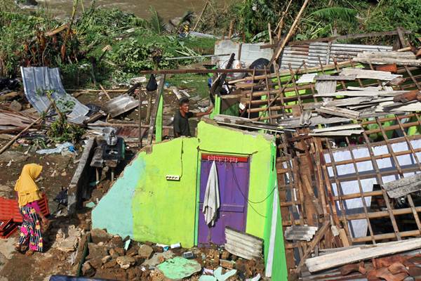
[[[20,226],[19,244],[25,245],[29,242],[29,249],[42,251],[41,219],[35,209],[27,205],[20,207],[19,211],[23,218],[22,226]]]

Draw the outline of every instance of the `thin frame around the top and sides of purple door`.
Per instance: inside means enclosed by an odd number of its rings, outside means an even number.
[[[199,201],[200,201],[200,180],[201,180],[201,160],[202,160],[202,155],[218,155],[221,157],[239,157],[241,158],[243,161],[241,162],[248,162],[248,188],[250,188],[250,168],[251,168],[251,160],[252,160],[252,155],[249,154],[241,154],[241,153],[229,153],[229,152],[213,152],[213,151],[208,151],[208,150],[200,150],[199,148],[199,153],[197,153],[197,171],[196,171],[196,212],[195,212],[195,216],[194,216],[194,246],[197,246],[199,244],[199,214],[201,212],[200,208],[199,208]],[[244,161],[244,159],[247,159],[247,161]],[[250,190],[248,190],[247,192],[247,197],[249,194]],[[248,200],[248,198],[247,198]],[[247,211],[248,211],[248,201],[246,201],[245,203],[245,214],[246,214],[246,218],[245,218],[245,222],[244,222],[244,226],[245,228],[247,228]]]

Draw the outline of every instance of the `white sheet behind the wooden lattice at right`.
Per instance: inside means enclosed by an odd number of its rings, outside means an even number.
[[[421,140],[414,140],[410,141],[413,148],[416,150],[417,148],[421,148]],[[406,151],[409,150],[408,144],[403,141],[402,143],[392,143],[392,150],[396,153],[399,151]],[[359,159],[362,157],[370,157],[370,154],[368,152],[368,148],[363,147],[357,147],[352,148],[352,152],[354,154],[355,159]],[[389,150],[387,150],[387,145],[380,145],[373,147],[374,155],[385,155],[389,154]],[[421,152],[416,153],[418,159],[421,159]],[[326,163],[330,163],[330,155],[325,154],[324,155],[326,159]],[[349,150],[338,150],[336,152],[333,152],[333,159],[335,159],[335,162],[345,161],[352,159],[351,154]],[[399,155],[396,156],[396,159],[399,162],[399,166],[401,166],[402,169],[409,168],[411,166],[417,165],[415,158],[412,154],[406,154],[406,155]],[[377,166],[380,169],[380,172],[382,171],[396,171],[396,164],[394,163],[394,160],[392,157],[386,157],[383,159],[377,159]],[[359,174],[363,176],[364,174],[368,173],[374,173],[375,169],[373,168],[373,163],[371,160],[365,161],[365,162],[358,162],[356,163],[356,168],[359,171]],[[336,169],[338,170],[338,179],[340,181],[340,185],[342,188],[342,194],[352,194],[352,193],[359,193],[359,184],[358,181],[343,181],[341,180],[341,176],[353,176],[355,175],[355,169],[354,164],[345,164],[345,165],[336,165]],[[328,173],[331,178],[333,178],[333,168],[330,166],[328,167]],[[411,176],[415,173],[406,173],[403,174],[403,176]],[[389,183],[390,181],[396,181],[399,179],[398,175],[392,175],[392,176],[382,176],[383,183]],[[363,189],[363,192],[370,192],[373,191],[373,184],[377,184],[377,177],[372,176],[370,178],[363,178],[361,179],[361,187]],[[332,183],[333,192],[335,195],[338,195],[338,188],[336,183]],[[370,204],[371,204],[371,197],[365,197],[366,205],[368,207],[368,211],[370,211]],[[344,201],[345,205],[345,212],[347,214],[356,214],[356,213],[363,213],[363,202],[360,198],[355,199],[349,199]],[[337,202],[337,209],[338,214],[340,214],[340,207],[339,202]],[[367,221],[366,219],[359,219],[359,220],[353,220],[349,224],[349,228],[351,230],[352,237],[365,237],[367,235]]]

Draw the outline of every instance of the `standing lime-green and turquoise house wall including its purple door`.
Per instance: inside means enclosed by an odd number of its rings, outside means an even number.
[[[215,138],[218,136],[218,138]],[[274,138],[202,121],[196,138],[156,143],[140,152],[95,209],[93,228],[135,240],[193,247],[224,245],[225,228],[263,240],[266,274],[286,277],[276,192]],[[218,173],[220,207],[214,226],[203,216],[210,168]],[[234,244],[234,253],[253,244]]]

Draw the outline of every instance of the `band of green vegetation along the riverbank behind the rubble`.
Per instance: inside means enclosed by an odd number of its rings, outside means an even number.
[[[288,13],[284,13],[289,2],[241,0],[218,7],[211,1],[196,30],[227,35],[231,26],[234,37],[249,42],[268,41],[267,23],[275,30],[283,16],[281,33],[286,34],[303,0],[291,1]],[[74,8],[78,8],[78,0],[74,0]],[[68,32],[63,26],[69,24],[68,19],[56,20],[42,9],[22,11],[13,0],[0,0],[0,76],[17,77],[22,65],[47,65],[60,67],[65,86],[110,86],[126,83],[140,70],[176,68],[198,61],[166,58],[213,53],[215,40],[179,35],[184,25],[196,22],[192,12],[187,11],[173,25],[163,22],[153,8],[150,14],[150,18],[138,18],[116,9],[95,8],[94,1],[72,22]],[[412,41],[419,44],[416,38],[421,37],[420,18],[419,0],[310,1],[293,39],[403,27],[413,32]],[[59,27],[63,28],[55,30]],[[348,42],[393,44],[395,38]]]

